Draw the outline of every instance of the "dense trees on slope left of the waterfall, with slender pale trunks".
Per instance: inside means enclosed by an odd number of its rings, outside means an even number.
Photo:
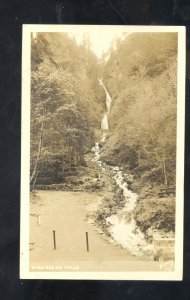
[[[31,184],[62,182],[84,163],[103,112],[89,38],[38,33],[31,47]]]

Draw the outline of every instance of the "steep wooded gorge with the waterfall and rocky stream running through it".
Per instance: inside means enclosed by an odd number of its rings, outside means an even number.
[[[32,55],[33,185],[112,190],[115,198],[105,198],[95,218],[124,246],[132,236],[136,253],[143,234],[173,237],[175,198],[161,200],[158,192],[175,186],[176,34],[118,40],[102,79],[87,43],[65,34],[38,35]]]

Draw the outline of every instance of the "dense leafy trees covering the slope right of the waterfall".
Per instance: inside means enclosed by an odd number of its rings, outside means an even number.
[[[175,184],[176,74],[176,33],[132,33],[104,66],[113,101],[102,158],[126,164],[142,184]]]

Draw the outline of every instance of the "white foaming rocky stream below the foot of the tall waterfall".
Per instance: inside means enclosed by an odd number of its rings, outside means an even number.
[[[152,244],[148,243],[144,234],[137,227],[133,210],[136,205],[137,194],[132,192],[126,179],[132,180],[132,176],[125,174],[121,168],[115,166],[108,166],[100,160],[99,143],[96,142],[92,151],[94,152],[93,161],[100,167],[101,172],[109,173],[109,176],[114,178],[119,190],[122,190],[125,198],[125,205],[119,209],[116,214],[106,218],[106,226],[112,240],[122,248],[129,250],[135,256],[150,256],[153,252]]]

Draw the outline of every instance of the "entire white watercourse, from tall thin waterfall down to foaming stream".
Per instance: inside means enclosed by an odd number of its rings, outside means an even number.
[[[101,122],[102,138],[101,142],[104,142],[107,137],[107,132],[109,130],[108,125],[108,114],[110,112],[110,106],[112,99],[105,88],[101,79],[99,79],[100,85],[103,87],[106,94],[106,108],[107,111],[103,116]],[[151,251],[152,246],[149,245],[144,237],[144,234],[137,227],[135,219],[133,217],[133,209],[136,204],[137,195],[128,189],[127,180],[132,180],[131,175],[124,174],[119,167],[109,167],[105,163],[102,163],[100,158],[100,148],[99,142],[95,143],[93,147],[94,161],[101,167],[102,172],[106,172],[109,169],[113,174],[113,178],[116,184],[123,191],[123,196],[125,197],[126,203],[124,208],[119,210],[117,214],[114,214],[106,219],[108,230],[111,237],[115,240],[117,244],[128,249],[133,255],[139,256],[144,252]]]

